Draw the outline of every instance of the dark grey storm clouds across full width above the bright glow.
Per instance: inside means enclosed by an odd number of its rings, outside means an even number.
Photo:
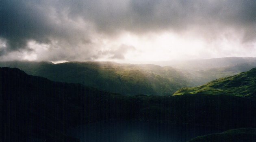
[[[191,28],[216,35],[233,28],[243,32],[243,42],[255,41],[256,0],[0,0],[0,38],[7,40],[1,55],[28,50],[30,40],[58,41],[65,49],[79,43],[90,52],[88,48],[98,48],[88,46],[94,33],[180,33]]]

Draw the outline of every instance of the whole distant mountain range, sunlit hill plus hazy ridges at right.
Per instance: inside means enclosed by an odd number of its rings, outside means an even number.
[[[152,64],[95,61],[61,64],[49,61],[2,61],[0,67],[20,68],[27,74],[46,77],[52,81],[81,83],[124,95],[171,95],[182,87],[196,87],[256,67],[254,58],[229,57],[197,62],[201,64],[192,61],[187,63],[195,65],[196,70],[192,67],[191,70],[182,70]]]

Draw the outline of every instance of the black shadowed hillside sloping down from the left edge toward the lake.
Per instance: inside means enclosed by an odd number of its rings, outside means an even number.
[[[17,68],[0,68],[0,142],[76,142],[65,136],[65,129],[134,116],[132,106],[126,108],[130,103],[124,97],[112,99],[115,95],[31,76]]]

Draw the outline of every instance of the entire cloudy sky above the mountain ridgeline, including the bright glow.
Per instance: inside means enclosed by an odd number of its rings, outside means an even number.
[[[0,0],[0,60],[256,57],[256,0]]]

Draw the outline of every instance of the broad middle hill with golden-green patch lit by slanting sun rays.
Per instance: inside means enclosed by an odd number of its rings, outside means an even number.
[[[124,95],[171,95],[181,87],[193,87],[195,76],[171,67],[151,64],[118,64],[114,62],[9,61],[2,67],[20,68],[26,73],[52,81],[81,83]]]

